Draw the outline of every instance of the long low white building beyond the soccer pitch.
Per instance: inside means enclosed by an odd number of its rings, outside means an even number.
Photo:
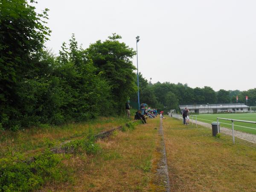
[[[180,110],[188,108],[192,113],[247,113],[248,106],[244,103],[206,104],[206,105],[180,105]]]

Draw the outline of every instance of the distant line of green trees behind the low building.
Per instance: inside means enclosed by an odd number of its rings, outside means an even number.
[[[236,103],[236,96],[239,103],[246,103],[245,96],[248,96],[247,105],[256,106],[256,88],[247,91],[221,89],[215,92],[207,86],[191,88],[187,84],[169,82],[151,84],[142,74],[139,79],[140,102],[161,110],[178,110],[178,105]],[[131,100],[137,101],[137,95],[134,94]]]

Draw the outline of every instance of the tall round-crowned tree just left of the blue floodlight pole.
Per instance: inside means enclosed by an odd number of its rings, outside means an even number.
[[[136,74],[133,72],[136,68],[131,61],[136,52],[119,42],[119,39],[121,36],[114,33],[108,40],[96,41],[86,49],[87,57],[97,67],[97,73],[102,73],[102,77],[111,85],[117,113],[123,111],[125,101],[136,92]]]

